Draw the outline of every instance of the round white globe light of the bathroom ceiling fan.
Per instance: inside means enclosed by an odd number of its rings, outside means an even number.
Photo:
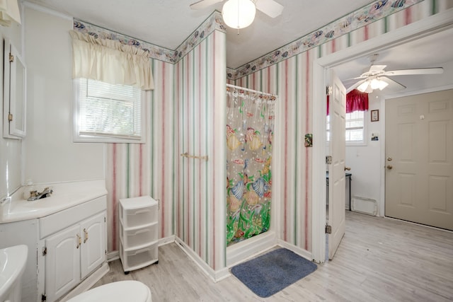
[[[230,28],[246,28],[255,19],[256,6],[251,0],[228,0],[222,8],[224,22]]]

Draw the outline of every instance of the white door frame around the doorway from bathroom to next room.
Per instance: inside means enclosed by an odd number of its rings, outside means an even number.
[[[311,257],[322,263],[326,259],[326,83],[328,69],[374,52],[417,40],[453,27],[453,10],[449,9],[423,18],[389,33],[379,35],[355,46],[321,57],[313,62],[313,156],[311,169]],[[319,118],[322,117],[322,118]],[[381,171],[381,180],[384,170]],[[384,184],[384,182],[382,182]],[[381,185],[382,187],[382,185]],[[384,190],[381,188],[381,190]],[[384,195],[382,201],[384,204]],[[316,202],[315,202],[316,201]]]

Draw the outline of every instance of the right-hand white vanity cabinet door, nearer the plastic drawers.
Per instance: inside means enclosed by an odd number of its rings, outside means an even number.
[[[105,212],[82,221],[80,229],[82,236],[81,279],[84,279],[105,262]]]

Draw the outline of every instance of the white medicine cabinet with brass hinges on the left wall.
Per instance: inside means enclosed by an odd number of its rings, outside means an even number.
[[[3,136],[8,139],[25,137],[26,67],[21,54],[8,38],[3,40],[4,90]]]

